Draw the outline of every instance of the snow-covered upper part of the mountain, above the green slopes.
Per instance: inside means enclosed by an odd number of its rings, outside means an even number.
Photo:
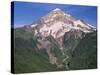
[[[42,37],[52,35],[54,38],[60,38],[71,30],[79,30],[85,33],[94,31],[94,28],[88,23],[85,23],[83,20],[74,19],[70,14],[64,13],[59,8],[52,10],[40,18],[39,22],[31,27],[36,27],[35,32],[39,33]]]

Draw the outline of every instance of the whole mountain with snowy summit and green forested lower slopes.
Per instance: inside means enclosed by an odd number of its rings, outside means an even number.
[[[96,68],[96,32],[56,8],[31,25],[14,29],[15,72]]]

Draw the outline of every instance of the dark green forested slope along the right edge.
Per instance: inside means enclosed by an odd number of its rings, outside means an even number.
[[[75,48],[70,69],[92,69],[97,67],[97,35],[87,34]]]

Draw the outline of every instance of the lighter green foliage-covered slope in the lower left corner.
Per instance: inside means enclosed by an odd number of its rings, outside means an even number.
[[[28,50],[15,53],[15,73],[53,71],[55,67],[49,63],[46,54]]]

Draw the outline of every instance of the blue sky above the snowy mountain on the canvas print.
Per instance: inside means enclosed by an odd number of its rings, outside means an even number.
[[[76,19],[81,19],[86,23],[97,26],[97,7],[68,4],[50,4],[15,1],[11,7],[12,26],[14,28],[24,25],[30,25],[42,16],[45,16],[55,8],[60,8],[63,12],[72,15]]]

